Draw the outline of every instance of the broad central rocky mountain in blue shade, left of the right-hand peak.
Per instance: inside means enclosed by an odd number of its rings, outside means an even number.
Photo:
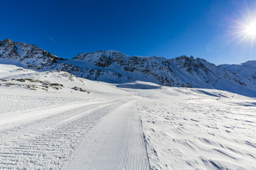
[[[164,57],[129,57],[117,51],[99,51],[82,53],[72,60],[60,63],[73,65],[76,72],[68,67],[65,67],[65,71],[77,76],[82,76],[82,71],[87,79],[112,83],[141,80],[166,86],[185,86],[172,72]]]

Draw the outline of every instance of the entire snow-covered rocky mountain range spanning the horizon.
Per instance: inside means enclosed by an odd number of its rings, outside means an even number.
[[[155,56],[130,57],[110,50],[81,53],[72,60],[64,60],[35,45],[6,39],[0,41],[0,62],[11,62],[38,71],[57,69],[108,83],[149,81],[164,86],[220,89],[256,96],[256,81],[252,76],[255,73],[248,77],[240,74],[238,69],[230,69],[230,72],[227,67],[218,67],[206,60],[186,56],[167,60]],[[255,62],[243,66],[246,69],[255,68]]]

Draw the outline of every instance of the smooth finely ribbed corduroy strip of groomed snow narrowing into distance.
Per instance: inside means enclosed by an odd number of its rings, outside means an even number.
[[[63,169],[150,169],[137,100],[106,115]]]

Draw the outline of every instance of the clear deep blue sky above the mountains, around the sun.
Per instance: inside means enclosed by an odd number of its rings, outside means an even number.
[[[256,60],[256,40],[234,35],[240,23],[256,17],[255,9],[255,0],[1,0],[0,39],[68,59],[117,50],[238,64]]]

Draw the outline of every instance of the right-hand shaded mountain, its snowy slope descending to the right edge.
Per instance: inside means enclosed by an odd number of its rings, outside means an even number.
[[[225,90],[245,96],[256,95],[255,84],[250,79],[216,67],[206,60],[181,56],[169,61],[177,77],[182,77],[191,87]]]

